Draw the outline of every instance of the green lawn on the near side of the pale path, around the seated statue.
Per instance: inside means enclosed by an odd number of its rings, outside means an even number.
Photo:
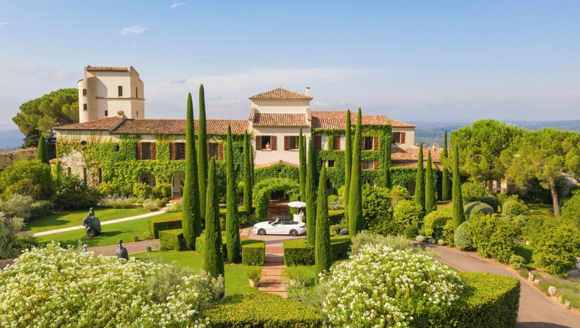
[[[137,218],[136,220],[113,223],[103,225],[103,231],[100,236],[93,238],[85,238],[85,230],[78,229],[73,231],[59,232],[57,234],[50,234],[39,236],[39,242],[49,242],[50,240],[58,240],[66,245],[77,245],[77,240],[81,239],[82,244],[87,244],[89,247],[115,245],[119,239],[124,242],[132,242],[134,236],[143,238],[143,234],[148,231],[148,222],[154,217],[175,217],[180,218],[181,213],[163,213],[156,216]]]

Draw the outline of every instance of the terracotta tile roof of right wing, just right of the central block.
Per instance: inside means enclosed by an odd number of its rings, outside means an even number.
[[[346,129],[346,111],[311,111],[313,129]],[[357,123],[357,112],[350,112],[350,122]],[[385,115],[362,115],[362,125],[386,125]]]

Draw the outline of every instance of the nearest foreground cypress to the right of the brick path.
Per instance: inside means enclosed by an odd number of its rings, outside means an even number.
[[[315,281],[318,275],[328,271],[332,265],[330,253],[330,227],[328,226],[328,198],[326,191],[326,167],[322,165],[322,172],[318,179],[318,199],[316,202],[316,245],[314,249],[316,263]]]

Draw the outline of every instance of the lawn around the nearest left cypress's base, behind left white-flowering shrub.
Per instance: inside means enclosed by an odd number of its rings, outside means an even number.
[[[189,267],[193,271],[198,272],[204,267],[204,257],[196,251],[177,252],[169,250],[166,252],[151,252],[151,253],[135,253],[131,257],[136,258],[151,258],[160,263],[172,263],[180,267]],[[314,266],[313,266],[314,267]],[[258,291],[257,287],[250,287],[248,277],[244,270],[246,268],[262,268],[262,267],[248,267],[243,264],[225,264],[224,265],[224,280],[226,282],[226,294],[240,294],[252,293]]]

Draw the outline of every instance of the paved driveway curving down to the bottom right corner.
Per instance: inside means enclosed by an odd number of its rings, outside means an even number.
[[[532,286],[527,280],[513,274],[510,271],[496,265],[469,255],[468,253],[449,247],[438,245],[423,246],[432,247],[440,255],[439,261],[451,265],[464,272],[490,272],[512,276],[521,280],[520,310],[517,316],[518,328],[580,328],[580,315],[567,311],[542,294],[541,291]]]

